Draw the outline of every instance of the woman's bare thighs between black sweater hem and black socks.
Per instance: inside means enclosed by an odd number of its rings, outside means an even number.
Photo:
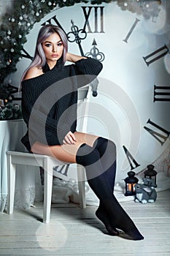
[[[76,162],[76,154],[78,148],[83,143],[88,144],[89,146],[93,146],[94,141],[98,136],[89,135],[83,132],[74,132],[74,135],[77,141],[70,145],[55,145],[55,146],[47,146],[45,144],[36,142],[31,148],[31,151],[35,154],[45,154],[50,157],[55,157],[62,162]]]

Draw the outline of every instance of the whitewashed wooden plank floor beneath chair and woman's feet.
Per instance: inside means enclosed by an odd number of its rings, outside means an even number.
[[[0,255],[170,255],[170,190],[153,204],[121,203],[144,236],[131,241],[108,236],[96,219],[96,207],[53,205],[50,224],[42,223],[42,204],[27,211],[0,214]]]

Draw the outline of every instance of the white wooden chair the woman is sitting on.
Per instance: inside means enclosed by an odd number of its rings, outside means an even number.
[[[87,127],[88,99],[90,98],[90,86],[79,89],[78,92],[78,120],[79,129],[85,132]],[[85,104],[82,104],[85,102]],[[84,117],[84,118],[82,118]],[[68,163],[69,164],[69,163]],[[16,165],[32,165],[39,166],[45,170],[44,176],[44,210],[43,222],[50,222],[50,208],[53,187],[53,167],[66,165],[53,157],[42,154],[31,154],[28,152],[7,151],[7,176],[8,176],[8,200],[7,213],[13,213],[14,195],[15,195],[15,175]],[[55,172],[55,177],[66,178],[62,173]],[[77,181],[79,187],[80,207],[85,208],[85,170],[82,165],[77,165]]]

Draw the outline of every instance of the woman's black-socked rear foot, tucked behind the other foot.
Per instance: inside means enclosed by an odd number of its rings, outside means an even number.
[[[107,217],[107,214],[105,213],[104,209],[101,208],[101,206],[99,206],[96,211],[96,217],[98,217],[98,219],[103,222],[110,236],[119,236],[119,232],[114,226],[112,227],[112,225],[109,223],[109,218]]]

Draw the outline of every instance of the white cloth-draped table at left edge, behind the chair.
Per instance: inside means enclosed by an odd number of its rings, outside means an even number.
[[[18,120],[5,120],[0,121],[0,211],[3,212],[7,204],[7,155],[8,150],[25,151],[23,144],[20,142],[20,138],[26,132],[26,124],[23,119]],[[27,168],[26,166],[20,168]],[[16,180],[16,189],[20,191],[22,197],[24,188],[35,187],[35,173],[32,172],[28,175],[27,171],[21,171],[18,167],[18,173]],[[30,194],[30,191],[28,192]],[[27,195],[28,196],[28,195]],[[34,195],[33,195],[34,196]],[[30,195],[28,196],[30,197]],[[20,200],[18,200],[20,201]]]

